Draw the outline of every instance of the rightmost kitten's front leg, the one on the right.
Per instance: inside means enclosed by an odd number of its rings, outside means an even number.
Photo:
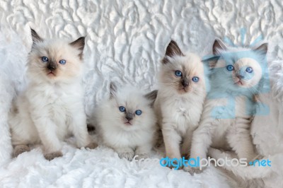
[[[235,125],[229,130],[227,140],[236,151],[238,158],[246,158],[248,162],[253,160],[257,154],[253,150],[253,142],[250,137],[250,121],[237,118]]]

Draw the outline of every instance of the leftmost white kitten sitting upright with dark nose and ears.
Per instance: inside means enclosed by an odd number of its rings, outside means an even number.
[[[28,55],[28,88],[9,114],[13,156],[30,151],[29,144],[42,143],[44,156],[62,156],[61,141],[72,133],[81,148],[91,143],[86,129],[81,76],[84,37],[68,43],[43,40],[31,30],[33,46]]]

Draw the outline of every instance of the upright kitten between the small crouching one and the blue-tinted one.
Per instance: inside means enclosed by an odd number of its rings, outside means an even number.
[[[154,104],[158,126],[163,134],[166,156],[181,158],[190,151],[192,132],[199,124],[208,89],[204,65],[196,54],[183,54],[173,40],[166,48],[161,63],[158,95]]]

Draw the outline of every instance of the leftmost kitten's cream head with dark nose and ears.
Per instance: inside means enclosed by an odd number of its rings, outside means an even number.
[[[28,76],[35,81],[69,81],[81,76],[84,37],[74,42],[43,40],[31,29],[33,46],[28,56]]]

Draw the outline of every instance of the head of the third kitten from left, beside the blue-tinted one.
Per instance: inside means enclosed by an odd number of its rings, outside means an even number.
[[[166,48],[161,66],[161,88],[180,95],[200,93],[205,88],[204,66],[196,54],[183,52],[173,40]]]

